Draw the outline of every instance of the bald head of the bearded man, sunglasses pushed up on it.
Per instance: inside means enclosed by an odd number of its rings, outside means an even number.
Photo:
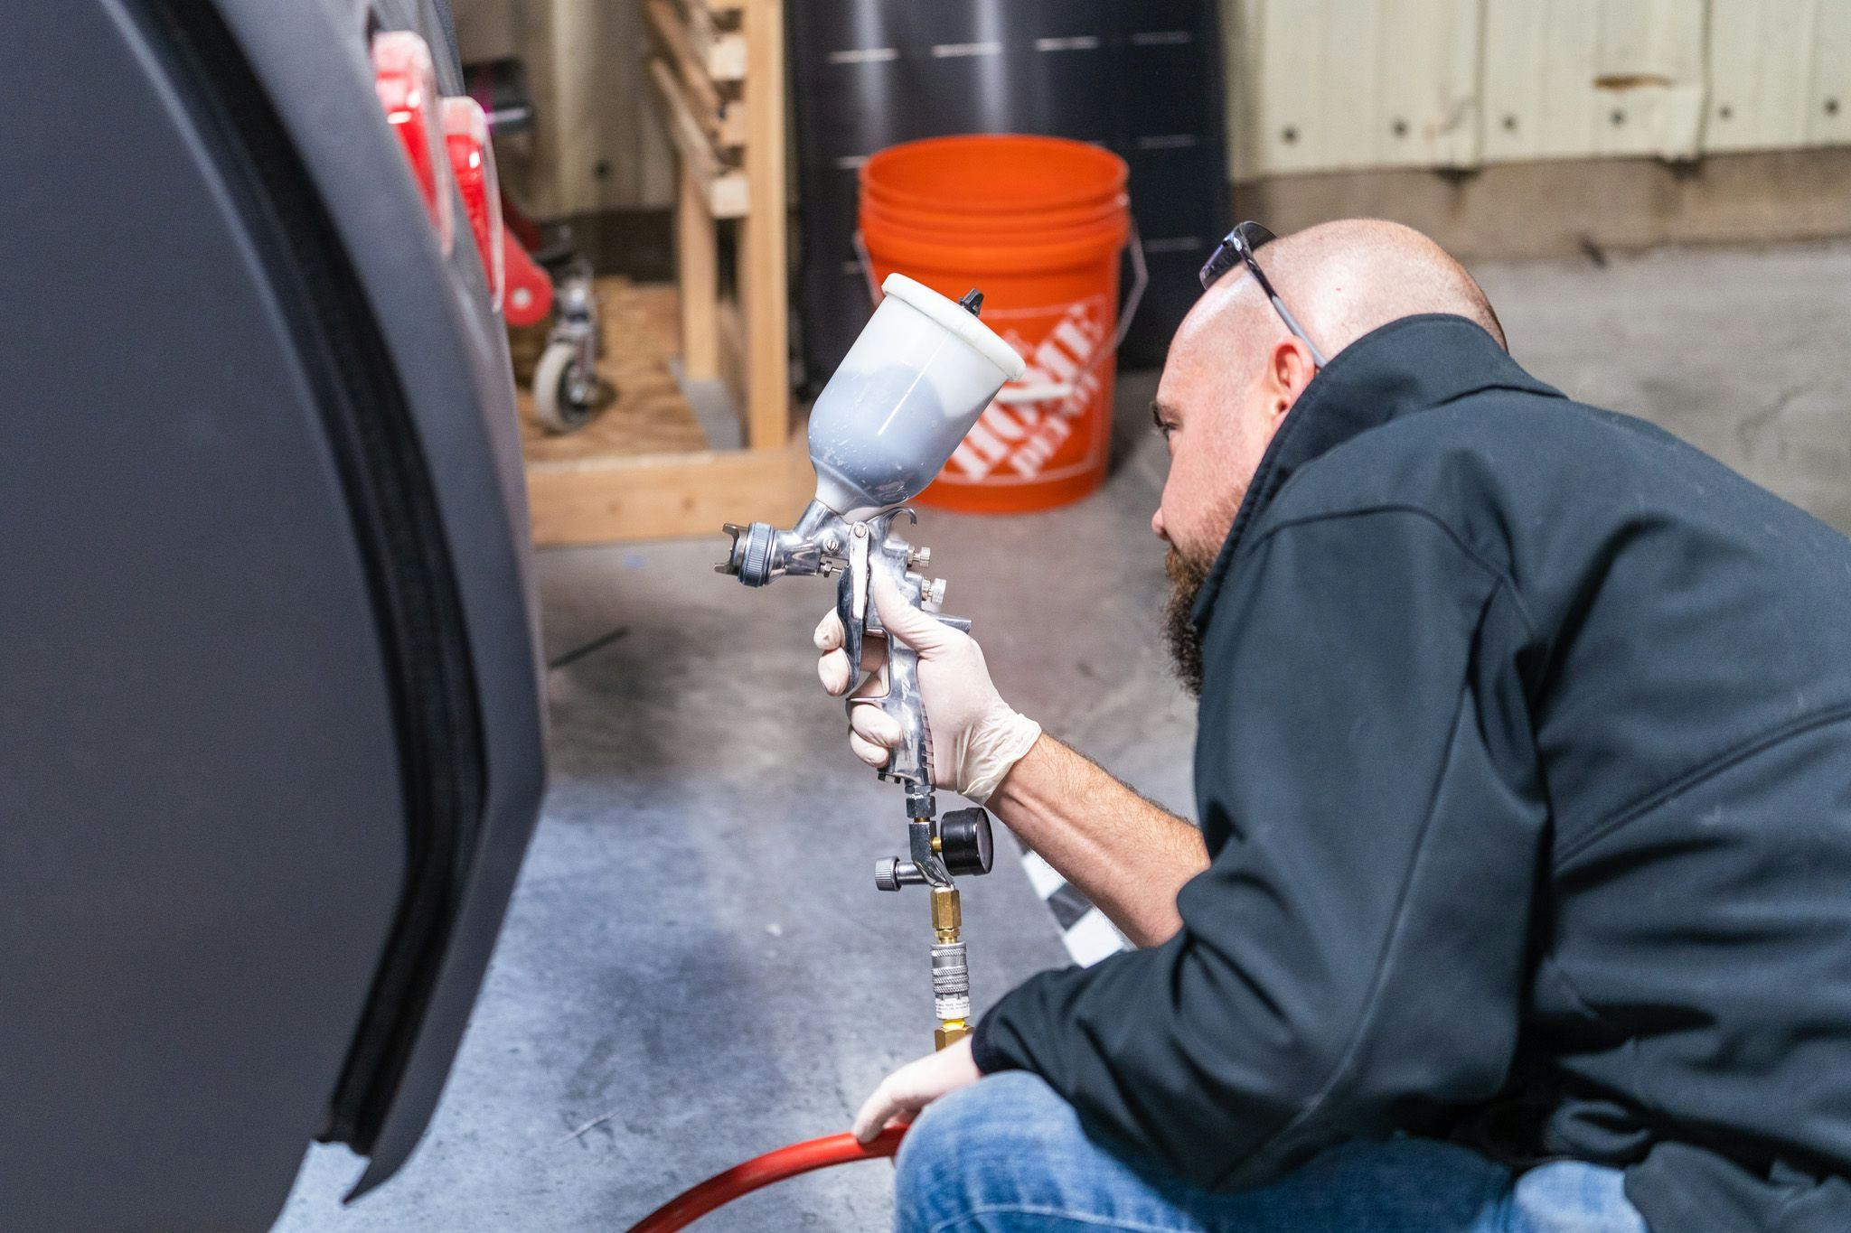
[[[1388,322],[1451,312],[1505,346],[1479,285],[1412,227],[1348,218],[1266,244],[1255,259],[1279,299],[1327,359]],[[1170,440],[1170,479],[1151,529],[1170,542],[1172,643],[1188,664],[1186,619],[1273,433],[1316,375],[1307,348],[1246,264],[1190,309],[1170,344],[1151,412]],[[1185,680],[1188,669],[1185,667]]]

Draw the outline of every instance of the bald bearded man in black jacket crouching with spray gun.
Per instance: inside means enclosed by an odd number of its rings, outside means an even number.
[[[1268,240],[1153,407],[1199,832],[876,590],[938,786],[1138,946],[870,1096],[898,1227],[1851,1229],[1851,542],[1525,373],[1425,237]]]

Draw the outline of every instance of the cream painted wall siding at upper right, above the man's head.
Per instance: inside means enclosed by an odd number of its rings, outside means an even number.
[[[1224,0],[1235,179],[1851,144],[1851,0]]]

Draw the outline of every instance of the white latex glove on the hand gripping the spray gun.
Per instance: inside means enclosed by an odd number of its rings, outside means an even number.
[[[872,590],[881,625],[920,656],[933,787],[983,804],[1040,738],[1040,725],[1011,710],[990,684],[975,638],[909,604],[885,577],[876,575]],[[822,688],[837,697],[848,693],[853,682],[842,651],[842,621],[833,608],[816,627],[816,649],[824,653],[816,664]],[[879,769],[901,739],[900,723],[877,704],[887,693],[887,647],[879,636],[863,641],[861,665],[868,675],[848,701],[848,747]]]

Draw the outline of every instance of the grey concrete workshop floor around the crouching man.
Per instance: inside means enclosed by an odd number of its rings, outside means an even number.
[[[1644,414],[1851,531],[1851,248],[1479,270],[1536,375]],[[1053,514],[922,514],[1003,695],[1192,812],[1194,715],[1155,632],[1153,373],[1120,383],[1120,464]],[[796,514],[796,510],[792,510]],[[716,529],[718,531],[718,529]],[[283,1229],[611,1229],[766,1148],[848,1124],[929,1046],[926,906],[872,865],[898,793],[842,747],[811,673],[816,580],[748,592],[722,540],[544,553],[552,795],[437,1118],[352,1209],[309,1154]],[[1012,860],[968,885],[977,1004],[1064,963]],[[702,1229],[877,1229],[888,1168],[744,1200]]]

